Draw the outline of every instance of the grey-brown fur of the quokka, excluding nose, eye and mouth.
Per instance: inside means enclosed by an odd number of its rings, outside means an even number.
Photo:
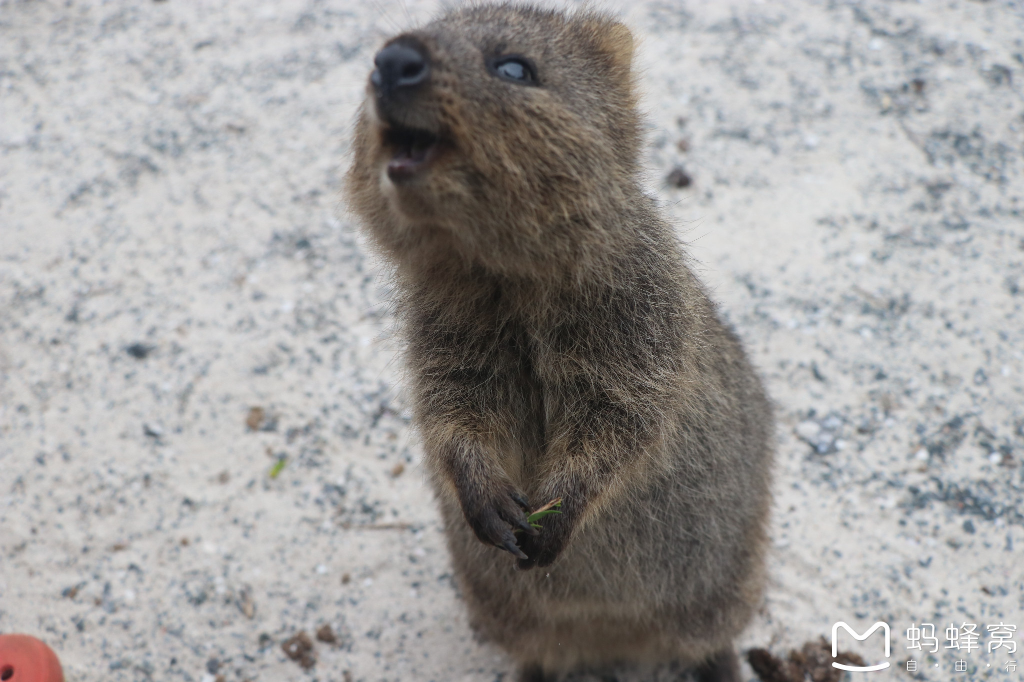
[[[524,679],[622,662],[731,679],[761,599],[771,414],[639,187],[629,31],[489,5],[395,41],[429,55],[429,82],[399,104],[370,89],[347,190],[394,269],[473,625]],[[513,53],[539,87],[486,69]],[[439,139],[402,182],[394,127]],[[555,497],[564,513],[512,535],[526,498]],[[498,548],[513,538],[526,559]]]

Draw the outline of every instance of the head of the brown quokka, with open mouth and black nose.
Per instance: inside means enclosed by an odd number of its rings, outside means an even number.
[[[612,18],[520,4],[395,36],[356,124],[352,208],[399,262],[523,273],[607,248],[635,188],[632,55]]]

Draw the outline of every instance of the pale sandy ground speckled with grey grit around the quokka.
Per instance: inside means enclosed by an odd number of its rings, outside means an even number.
[[[69,681],[511,680],[339,204],[375,49],[432,9],[0,1],[0,632]],[[1024,626],[1024,5],[618,10],[650,189],[778,405],[741,644],[883,620],[863,679],[910,679],[912,622]],[[953,653],[918,679],[1018,679]]]

